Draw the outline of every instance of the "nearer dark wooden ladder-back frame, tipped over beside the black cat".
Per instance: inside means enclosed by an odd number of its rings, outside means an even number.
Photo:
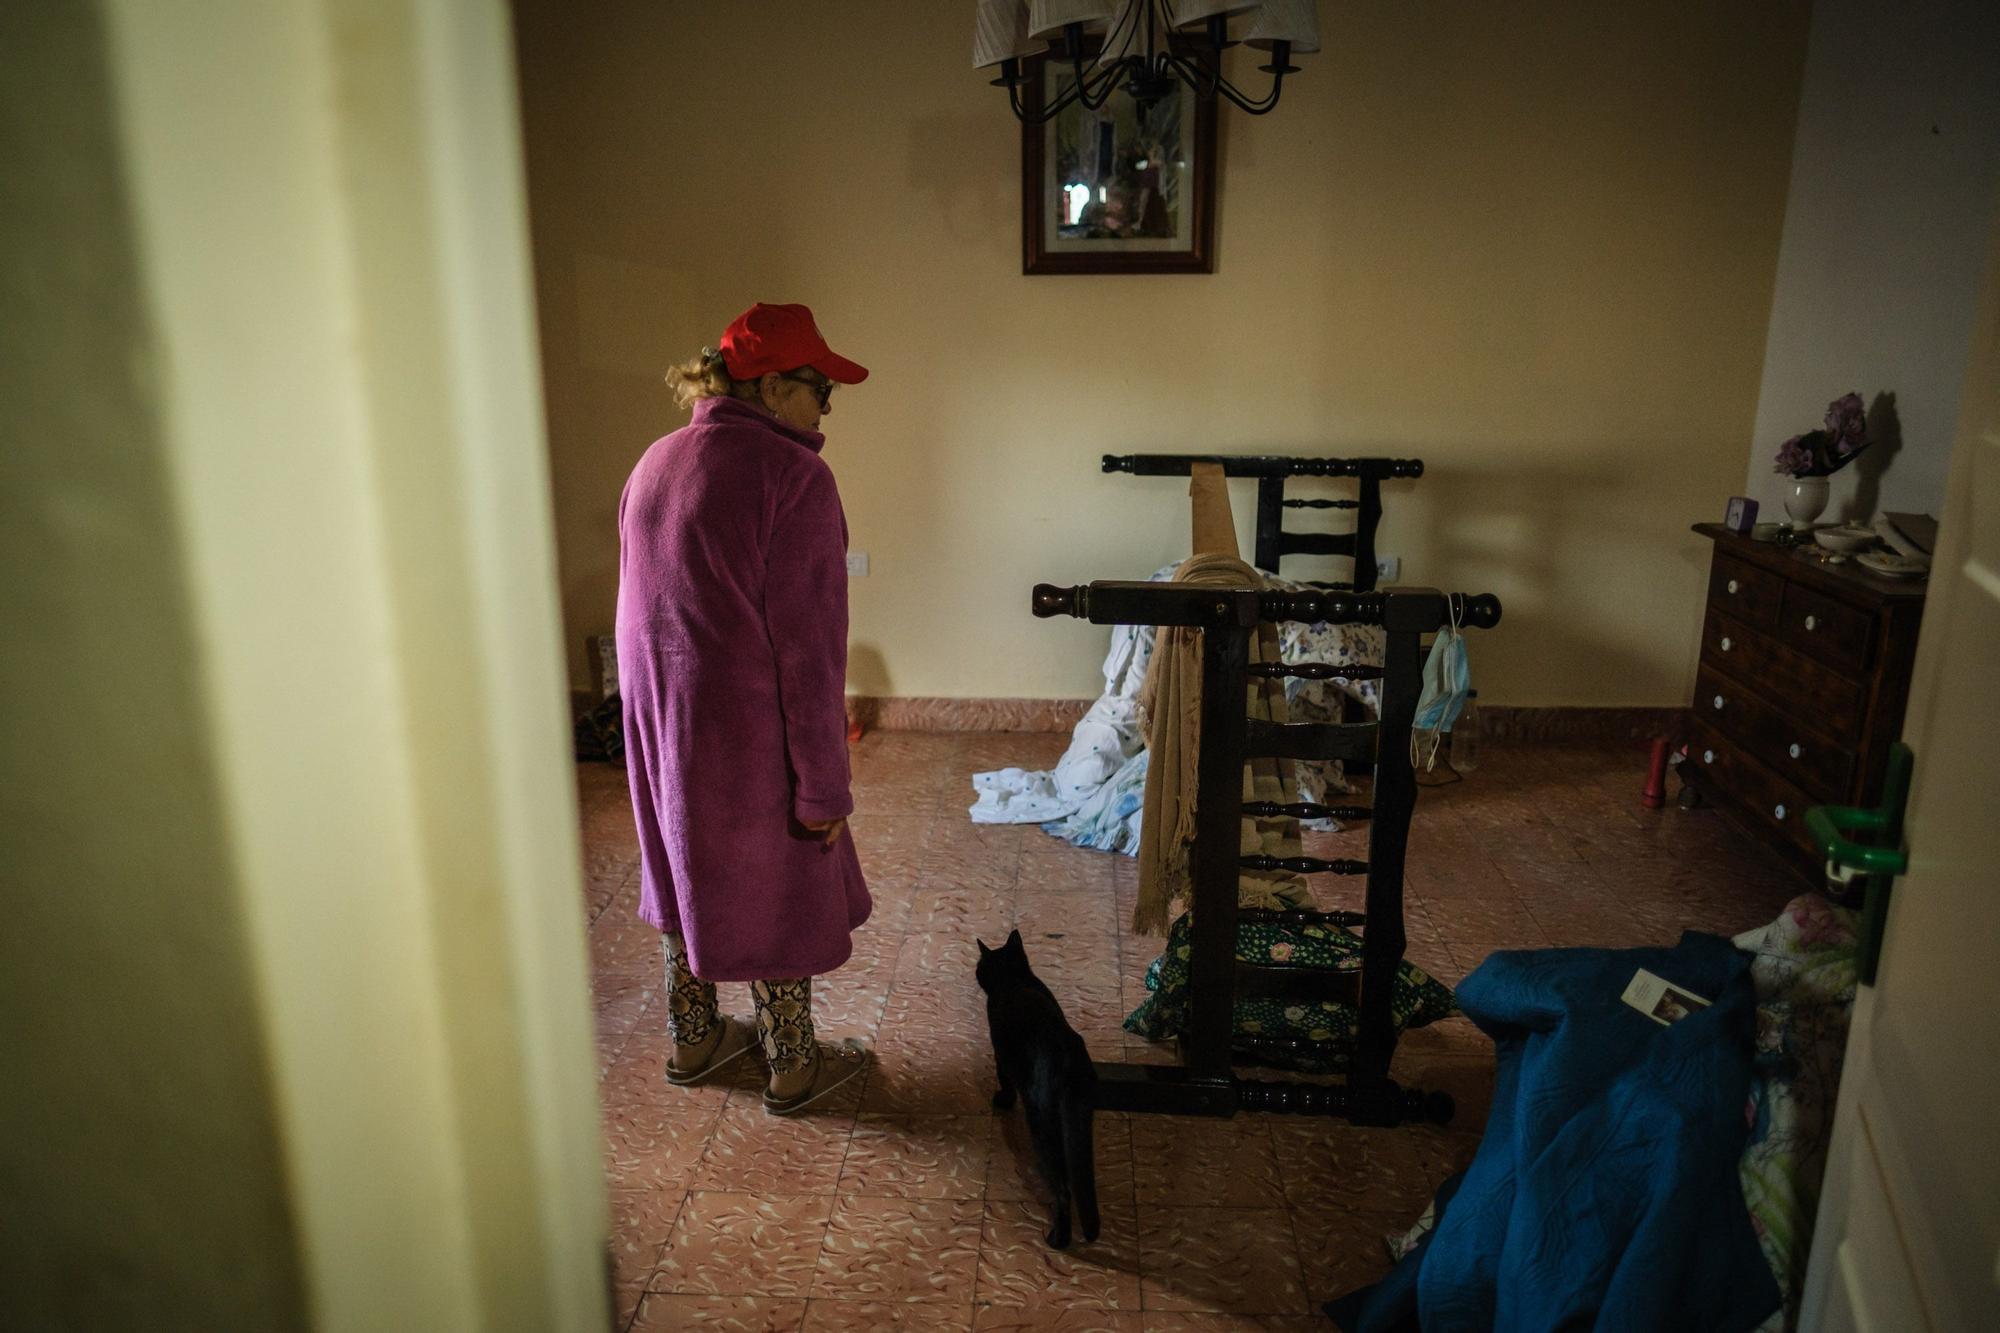
[[[1196,815],[1190,859],[1194,921],[1188,975],[1188,1027],[1182,1063],[1098,1063],[1098,1105],[1108,1111],[1234,1115],[1298,1111],[1340,1115],[1360,1125],[1406,1119],[1444,1123],[1452,1099],[1402,1089],[1388,1075],[1396,1051],[1390,1013],[1396,969],[1406,945],[1402,865],[1416,809],[1410,765],[1410,725],[1422,693],[1424,642],[1446,622],[1486,628],[1500,622],[1492,594],[1396,588],[1388,592],[1264,592],[1204,588],[1174,582],[1092,582],[1034,588],[1036,616],[1078,616],[1092,624],[1186,624],[1202,630],[1202,749],[1196,759]],[[1250,634],[1260,620],[1380,624],[1382,666],[1330,669],[1322,662],[1250,664]],[[1324,679],[1374,675],[1382,681],[1382,717],[1368,723],[1254,723],[1244,717],[1250,675]],[[1372,807],[1244,803],[1242,773],[1252,757],[1344,759],[1372,767]],[[1244,857],[1242,819],[1258,817],[1368,821],[1368,861],[1314,857]],[[1238,907],[1244,869],[1286,869],[1302,875],[1366,875],[1362,913],[1258,913]],[[1236,961],[1238,921],[1358,927],[1360,969],[1258,967]],[[1344,1085],[1238,1079],[1230,1071],[1232,1019],[1238,995],[1296,1001],[1342,1001],[1360,1013],[1358,1047]]]

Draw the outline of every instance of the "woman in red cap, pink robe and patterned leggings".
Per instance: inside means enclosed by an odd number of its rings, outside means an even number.
[[[852,953],[868,887],[846,817],[848,524],[820,458],[836,356],[806,306],[750,306],[668,380],[694,420],[618,502],[618,677],[640,917],[662,933],[670,1083],[762,1047],[792,1115],[866,1067],[812,1031],[812,977]],[[716,1013],[748,981],[756,1029]]]

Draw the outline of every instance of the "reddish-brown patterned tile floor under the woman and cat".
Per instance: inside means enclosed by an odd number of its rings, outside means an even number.
[[[972,773],[1048,767],[1064,741],[876,733],[854,749],[876,913],[816,1011],[822,1035],[866,1037],[880,1063],[794,1121],[764,1115],[754,1073],[662,1081],[658,937],[632,915],[624,775],[578,769],[622,1327],[1314,1329],[1318,1301],[1386,1271],[1382,1237],[1478,1143],[1492,1047],[1464,1019],[1408,1033],[1396,1057],[1404,1083],[1458,1099],[1448,1129],[1100,1115],[1104,1235],[1042,1245],[1020,1113],[986,1101],[974,937],[1020,927],[1100,1059],[1166,1059],[1120,1029],[1158,951],[1120,931],[1136,863],[964,815]],[[1494,949],[1736,933],[1800,891],[1714,813],[1642,809],[1642,751],[1490,751],[1468,781],[1424,791],[1410,959],[1456,983]],[[1366,855],[1364,839],[1308,835],[1308,853]],[[1356,885],[1314,891],[1340,905]],[[744,987],[722,999],[748,1015]]]

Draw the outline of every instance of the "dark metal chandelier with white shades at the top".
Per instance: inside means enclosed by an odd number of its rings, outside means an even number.
[[[1270,88],[1260,98],[1222,76],[1230,18],[1248,22],[1242,40],[1270,52]],[[1084,56],[1084,34],[1102,34],[1094,58]],[[1320,50],[1316,0],[978,0],[972,32],[972,68],[1000,66],[994,88],[1006,88],[1014,116],[1030,124],[1082,102],[1096,110],[1124,88],[1150,104],[1188,84],[1202,96],[1224,96],[1252,116],[1278,104],[1284,76],[1298,74],[1292,56]],[[1068,80],[1038,110],[1020,100],[1024,58],[1046,56],[1068,64]],[[1032,104],[1032,100],[1030,100]]]

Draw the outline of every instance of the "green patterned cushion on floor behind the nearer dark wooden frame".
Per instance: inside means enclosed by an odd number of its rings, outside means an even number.
[[[1166,933],[1166,951],[1146,969],[1146,1001],[1126,1017],[1126,1031],[1146,1041],[1178,1037],[1188,1023],[1188,955],[1192,935],[1188,913]],[[1238,923],[1236,961],[1262,967],[1316,967],[1360,971],[1362,937],[1338,927],[1284,927]],[[1390,1001],[1396,1029],[1424,1027],[1456,1013],[1452,993],[1420,967],[1396,969]],[[1348,1067],[1360,1031],[1360,1015],[1338,1001],[1278,1001],[1240,997],[1236,1001],[1236,1049],[1248,1063],[1278,1065],[1302,1073],[1340,1073]],[[1258,1041],[1304,1041],[1296,1051],[1262,1049]]]

